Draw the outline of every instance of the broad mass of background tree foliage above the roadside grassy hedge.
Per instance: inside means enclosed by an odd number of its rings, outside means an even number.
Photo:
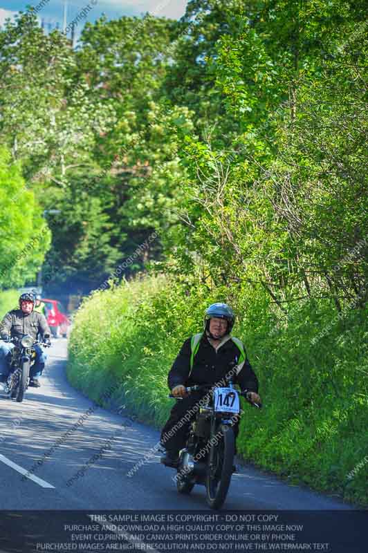
[[[365,302],[364,2],[191,0],[102,17],[75,50],[28,12],[0,38],[1,141],[62,212],[56,281],[95,287],[155,230],[127,274],[261,287],[281,312]]]

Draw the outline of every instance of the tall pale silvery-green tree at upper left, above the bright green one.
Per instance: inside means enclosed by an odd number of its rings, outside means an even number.
[[[111,106],[91,103],[75,83],[75,56],[58,31],[44,35],[32,12],[0,31],[0,132],[27,178],[68,182],[68,171],[93,165],[95,135],[113,120]]]

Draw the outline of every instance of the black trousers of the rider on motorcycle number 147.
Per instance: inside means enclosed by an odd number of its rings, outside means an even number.
[[[160,442],[167,451],[176,452],[185,446],[185,440],[190,430],[190,423],[196,417],[199,407],[203,405],[200,403],[203,396],[203,393],[192,393],[190,396],[184,397],[183,400],[176,400],[169,419],[161,432]],[[239,433],[239,421],[240,417],[232,426],[235,438],[237,438]]]

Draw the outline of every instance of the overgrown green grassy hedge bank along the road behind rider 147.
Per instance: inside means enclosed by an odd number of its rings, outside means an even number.
[[[75,317],[71,383],[93,400],[116,386],[114,402],[160,427],[172,406],[167,372],[178,349],[201,330],[205,307],[228,294],[164,277],[95,292]],[[264,402],[262,411],[244,405],[239,453],[293,483],[368,505],[367,310],[333,321],[332,305],[306,302],[286,318],[261,290],[231,300],[234,335],[246,344]]]

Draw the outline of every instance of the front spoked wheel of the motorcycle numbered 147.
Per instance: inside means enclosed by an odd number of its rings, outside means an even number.
[[[205,480],[207,503],[211,509],[220,509],[226,499],[235,453],[234,431],[232,427],[221,424],[219,430],[221,437],[218,444],[213,446],[214,466],[212,469],[210,468],[210,456],[208,456],[208,468]]]

